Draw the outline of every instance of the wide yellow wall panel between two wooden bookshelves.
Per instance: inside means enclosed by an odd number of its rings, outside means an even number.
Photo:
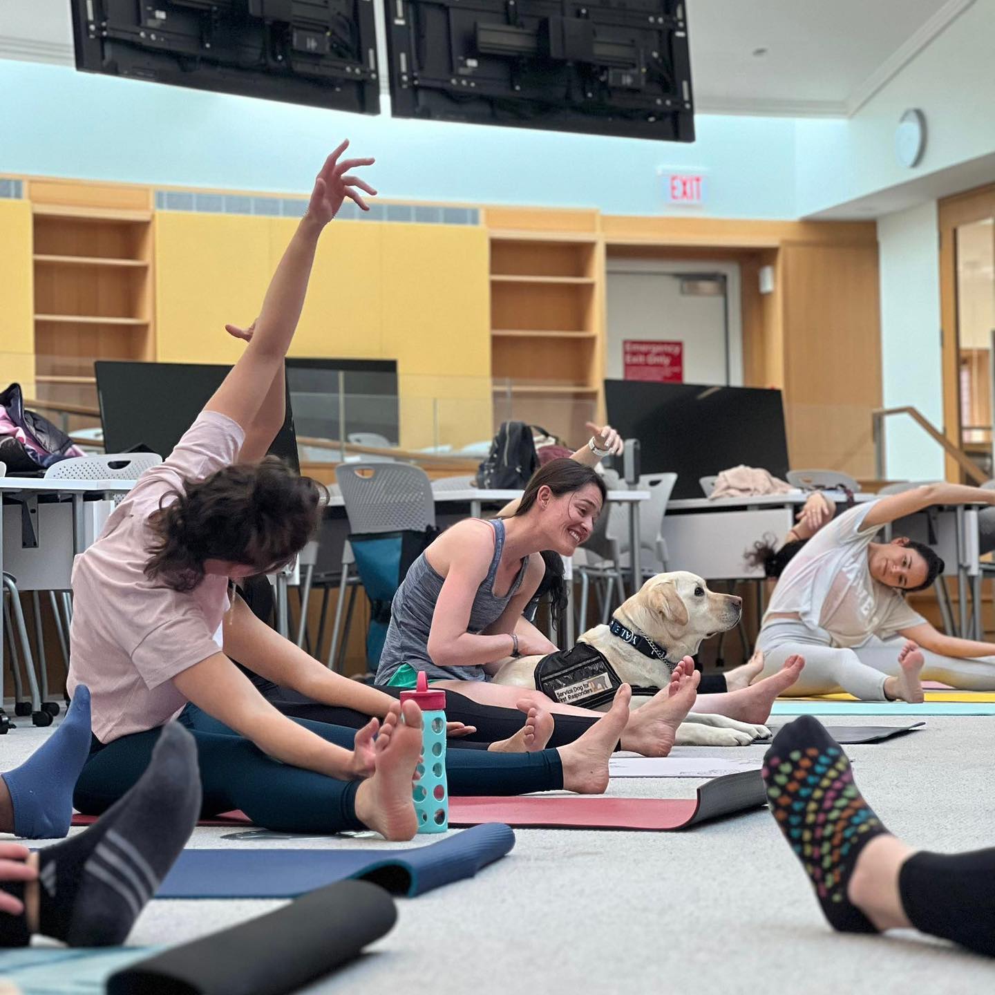
[[[242,347],[224,324],[256,316],[296,227],[290,218],[158,213],[157,358],[233,362]],[[489,439],[488,252],[483,228],[333,222],[291,355],[396,359],[402,447]]]

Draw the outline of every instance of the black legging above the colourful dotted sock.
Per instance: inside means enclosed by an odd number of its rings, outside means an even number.
[[[916,929],[995,957],[995,850],[913,854],[898,894]]]

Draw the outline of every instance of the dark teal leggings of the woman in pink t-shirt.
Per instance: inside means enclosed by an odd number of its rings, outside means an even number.
[[[197,743],[204,789],[202,818],[241,809],[258,826],[280,832],[337,833],[365,828],[355,811],[359,781],[340,781],[274,760],[193,704],[184,708],[179,720]],[[295,720],[328,742],[352,748],[354,729]],[[106,745],[95,737],[73,804],[85,815],[105,812],[148,766],[159,731],[135,732]],[[518,795],[563,787],[563,768],[554,749],[538,753],[447,751],[446,773],[452,795]]]

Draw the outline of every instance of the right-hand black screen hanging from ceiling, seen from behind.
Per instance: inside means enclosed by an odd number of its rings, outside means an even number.
[[[694,141],[685,0],[382,0],[391,112]]]

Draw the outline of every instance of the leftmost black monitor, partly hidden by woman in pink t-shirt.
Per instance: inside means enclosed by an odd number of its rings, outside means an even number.
[[[145,446],[165,459],[230,369],[207,363],[94,363],[104,449],[126,453]],[[289,389],[287,417],[270,453],[300,473]]]

